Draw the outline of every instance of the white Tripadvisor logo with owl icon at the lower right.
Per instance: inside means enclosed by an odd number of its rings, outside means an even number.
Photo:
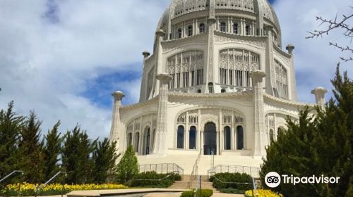
[[[311,177],[294,177],[287,174],[278,174],[277,172],[268,172],[265,176],[265,184],[270,188],[275,188],[281,184],[338,184],[340,177],[316,177],[315,175]]]

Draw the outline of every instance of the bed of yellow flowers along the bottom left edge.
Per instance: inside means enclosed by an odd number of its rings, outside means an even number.
[[[9,184],[0,191],[0,196],[17,196],[18,188],[20,186],[20,196],[35,196],[35,189],[38,184]],[[61,193],[68,193],[74,190],[100,190],[100,189],[126,189],[127,186],[122,184],[81,184],[81,185],[63,185],[62,184],[48,184],[44,187],[39,187],[37,191],[38,196],[59,195]]]

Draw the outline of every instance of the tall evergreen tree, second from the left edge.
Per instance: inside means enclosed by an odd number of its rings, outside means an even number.
[[[40,125],[42,122],[37,120],[34,112],[31,112],[20,133],[20,165],[25,171],[25,180],[32,183],[44,181],[44,153],[43,144],[40,142]]]

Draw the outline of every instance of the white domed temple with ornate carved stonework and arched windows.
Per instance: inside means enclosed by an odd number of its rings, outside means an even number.
[[[110,139],[119,153],[132,145],[139,164],[175,163],[184,174],[196,158],[200,174],[259,167],[285,118],[314,106],[297,101],[294,46],[286,49],[266,0],[172,0],[152,55],[143,52],[139,103],[113,94]],[[312,91],[317,104],[325,92]]]

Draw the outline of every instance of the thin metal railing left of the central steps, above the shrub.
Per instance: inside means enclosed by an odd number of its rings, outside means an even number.
[[[155,171],[161,174],[177,173],[181,176],[184,175],[184,169],[175,163],[156,163],[156,164],[143,164],[138,165],[139,172]]]

